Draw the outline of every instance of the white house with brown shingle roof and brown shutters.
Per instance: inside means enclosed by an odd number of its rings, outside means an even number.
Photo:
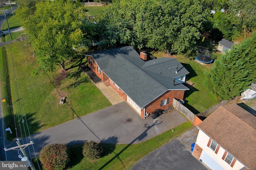
[[[232,104],[200,125],[193,155],[212,170],[256,170],[256,117]]]

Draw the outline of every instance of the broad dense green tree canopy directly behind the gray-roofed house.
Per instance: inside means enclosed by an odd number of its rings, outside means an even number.
[[[98,19],[101,43],[182,53],[200,38],[206,20],[197,0],[116,0]]]

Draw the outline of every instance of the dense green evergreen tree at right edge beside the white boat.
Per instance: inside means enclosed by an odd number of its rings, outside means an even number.
[[[204,84],[219,100],[239,95],[256,81],[256,33],[227,51],[209,72]]]

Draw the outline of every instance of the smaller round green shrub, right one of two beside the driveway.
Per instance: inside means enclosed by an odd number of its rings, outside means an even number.
[[[82,153],[84,157],[87,158],[88,160],[99,159],[102,152],[103,152],[103,149],[98,143],[92,140],[90,142],[84,143]]]

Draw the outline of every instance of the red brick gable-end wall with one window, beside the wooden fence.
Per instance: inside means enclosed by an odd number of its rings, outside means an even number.
[[[152,113],[156,109],[163,109],[163,110],[167,109],[168,106],[172,105],[173,98],[183,99],[184,92],[185,92],[184,90],[167,91],[166,93],[162,94],[160,97],[158,97],[157,99],[152,101],[150,104],[148,104],[145,107],[146,108],[146,112]],[[164,100],[164,99],[168,99],[168,98],[169,98],[169,104],[160,106],[161,105],[161,101]]]

